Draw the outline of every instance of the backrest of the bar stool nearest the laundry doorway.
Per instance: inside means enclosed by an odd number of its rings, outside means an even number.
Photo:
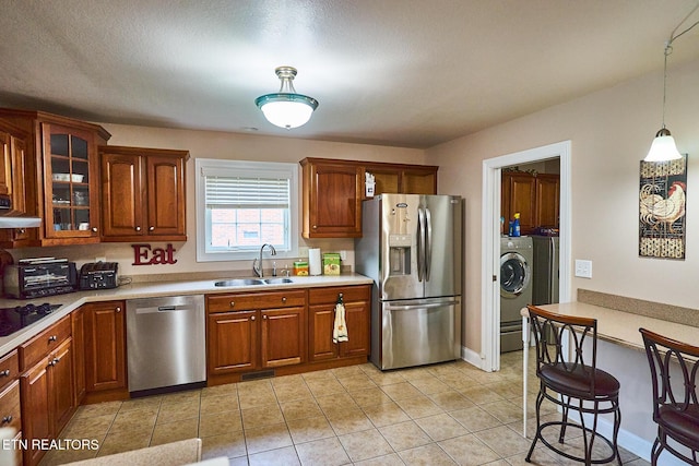
[[[564,371],[577,383],[577,391],[594,396],[597,363],[597,321],[591,318],[562,315],[535,306],[528,306],[536,343],[536,375],[542,370]],[[570,344],[564,351],[564,342]],[[590,340],[585,355],[583,344]],[[569,356],[570,355],[570,356]]]

